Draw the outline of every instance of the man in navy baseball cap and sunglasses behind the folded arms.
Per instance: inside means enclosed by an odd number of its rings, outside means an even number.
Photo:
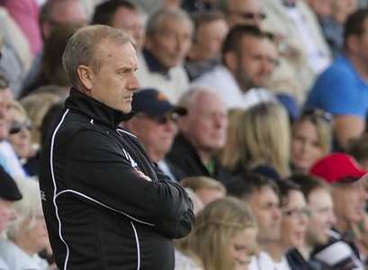
[[[148,157],[173,181],[179,181],[173,174],[175,166],[166,160],[166,154],[173,145],[177,131],[176,121],[186,114],[184,107],[170,103],[165,94],[157,89],[145,88],[134,94],[133,118],[124,125],[142,142]],[[177,170],[177,168],[176,168]]]

